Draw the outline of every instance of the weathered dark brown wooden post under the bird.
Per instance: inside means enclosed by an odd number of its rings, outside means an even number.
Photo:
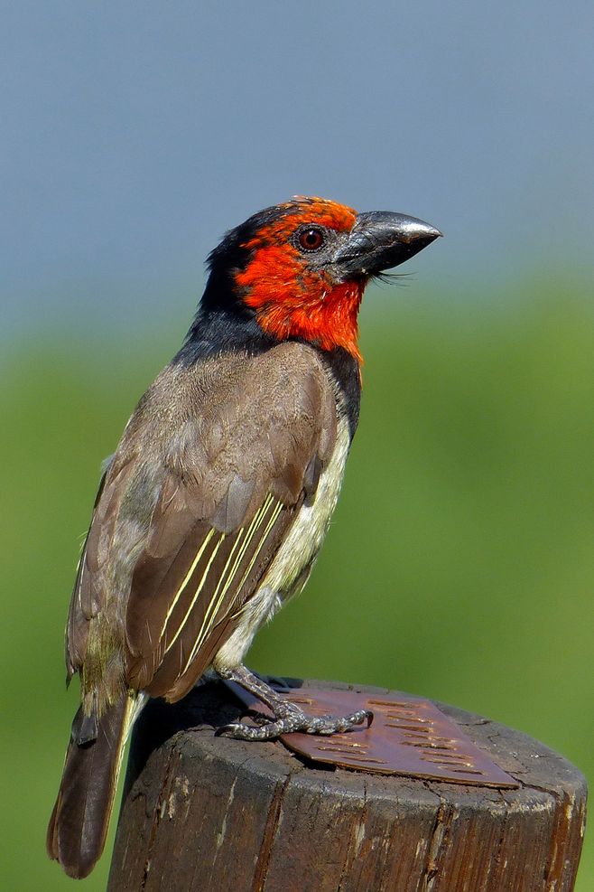
[[[580,772],[517,731],[440,708],[522,787],[311,767],[281,743],[214,737],[244,710],[218,682],[174,707],[151,702],[132,742],[109,892],[571,892]]]

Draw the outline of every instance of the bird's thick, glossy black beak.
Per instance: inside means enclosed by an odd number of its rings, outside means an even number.
[[[438,236],[441,232],[434,226],[403,213],[359,213],[347,243],[333,259],[343,279],[376,276],[414,257]]]

